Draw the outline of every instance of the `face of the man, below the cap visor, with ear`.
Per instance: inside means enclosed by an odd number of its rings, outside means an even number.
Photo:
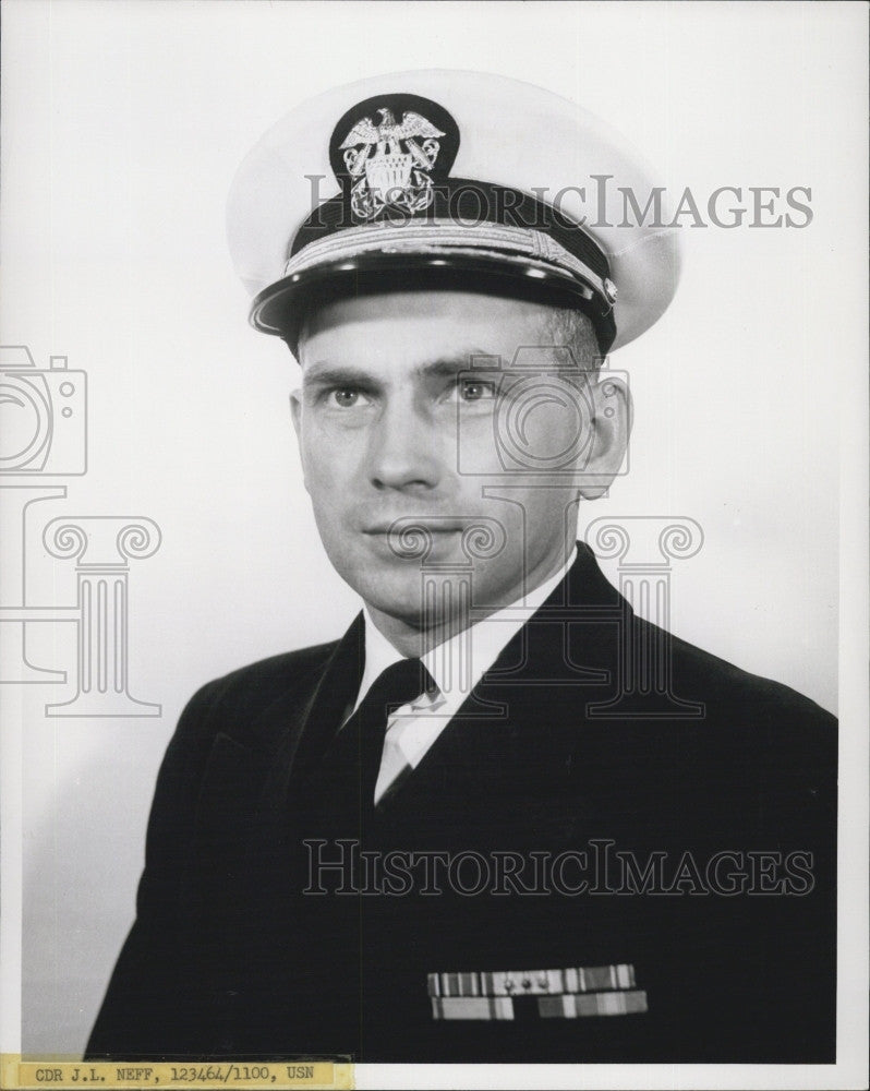
[[[475,608],[520,598],[572,548],[578,490],[599,494],[618,469],[625,392],[609,381],[605,416],[602,384],[580,371],[591,361],[569,379],[565,353],[540,347],[552,345],[547,313],[436,290],[350,298],[309,317],[292,396],[305,487],[330,561],[376,618],[431,623],[422,565],[447,579],[443,566],[470,570]]]

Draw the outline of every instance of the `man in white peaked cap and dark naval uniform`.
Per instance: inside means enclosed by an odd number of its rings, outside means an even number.
[[[185,709],[88,1056],[833,1060],[834,723],[576,542],[630,428],[601,360],[678,269],[578,164],[652,184],[571,104],[444,72],[245,160],[231,245],[363,612]]]

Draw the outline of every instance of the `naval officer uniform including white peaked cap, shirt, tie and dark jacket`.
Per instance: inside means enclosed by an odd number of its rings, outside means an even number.
[[[313,300],[414,278],[570,301],[602,352],[626,344],[673,295],[676,240],[590,208],[578,154],[649,185],[525,84],[322,96],[234,184],[252,321],[294,348]],[[667,650],[666,694],[620,703],[626,645]],[[831,1062],[835,840],[833,719],[636,615],[580,542],[422,660],[363,613],[195,695],[87,1055]]]

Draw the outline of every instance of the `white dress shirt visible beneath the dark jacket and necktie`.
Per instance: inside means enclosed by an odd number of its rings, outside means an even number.
[[[402,705],[387,720],[380,771],[375,786],[375,804],[395,791],[423,760],[438,735],[466,702],[486,671],[513,637],[555,589],[573,564],[575,546],[568,561],[548,579],[524,598],[497,610],[469,628],[432,648],[423,664],[432,675],[437,691],[423,693],[409,705]],[[360,707],[374,681],[392,663],[404,657],[375,626],[366,608],[365,669],[353,712]]]

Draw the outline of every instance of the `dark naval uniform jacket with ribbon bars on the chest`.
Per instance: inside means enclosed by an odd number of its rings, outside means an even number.
[[[581,544],[375,810],[322,765],[363,655],[358,618],[190,702],[88,1057],[834,1060],[826,712],[636,618]],[[541,971],[607,967],[645,1010],[542,1017]],[[434,1017],[485,971],[512,1019]]]

